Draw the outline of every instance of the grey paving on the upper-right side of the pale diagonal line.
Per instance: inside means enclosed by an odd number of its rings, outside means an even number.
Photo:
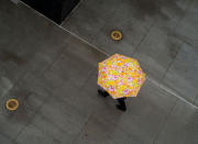
[[[197,104],[197,13],[196,0],[84,0],[63,26],[110,55],[138,58],[152,79]],[[123,40],[112,41],[112,30]]]

